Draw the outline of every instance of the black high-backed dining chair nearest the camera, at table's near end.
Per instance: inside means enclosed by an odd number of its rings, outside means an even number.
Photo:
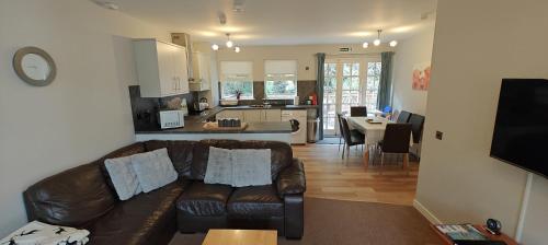
[[[383,145],[380,147],[380,166],[385,165],[385,154],[402,154],[403,163],[409,162],[409,142],[411,140],[411,124],[386,125]],[[404,164],[403,164],[404,165]]]

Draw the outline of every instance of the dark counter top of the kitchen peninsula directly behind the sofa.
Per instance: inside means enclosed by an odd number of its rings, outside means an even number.
[[[292,125],[289,121],[279,122],[248,122],[243,131],[210,131],[203,128],[205,122],[196,121],[196,118],[189,118],[184,121],[184,128],[174,129],[150,129],[136,131],[136,135],[153,133],[290,133]]]

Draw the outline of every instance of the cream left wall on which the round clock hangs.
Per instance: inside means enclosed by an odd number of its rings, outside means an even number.
[[[26,187],[134,141],[126,37],[169,39],[165,30],[91,1],[0,0],[0,237],[26,222]],[[55,59],[49,86],[15,75],[11,60],[24,46]]]

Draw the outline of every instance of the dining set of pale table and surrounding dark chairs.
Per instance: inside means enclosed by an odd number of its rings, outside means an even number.
[[[410,154],[420,159],[420,144],[425,117],[407,110],[367,112],[366,106],[353,106],[349,113],[338,113],[339,152],[347,160],[351,150],[362,150],[365,167],[400,165],[409,170]]]

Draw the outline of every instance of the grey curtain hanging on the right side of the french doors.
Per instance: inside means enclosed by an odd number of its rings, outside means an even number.
[[[379,110],[383,110],[386,106],[391,105],[392,101],[392,57],[393,51],[385,51],[380,54],[381,70],[377,102],[377,108]]]

